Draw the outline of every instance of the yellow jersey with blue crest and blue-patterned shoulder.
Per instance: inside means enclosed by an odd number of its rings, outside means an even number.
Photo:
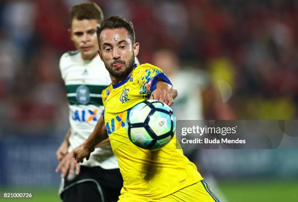
[[[102,91],[105,125],[124,180],[121,194],[158,199],[203,179],[182,150],[176,149],[175,135],[166,146],[151,151],[135,146],[125,131],[127,111],[149,99],[158,78],[170,84],[160,68],[135,65],[127,79]]]

